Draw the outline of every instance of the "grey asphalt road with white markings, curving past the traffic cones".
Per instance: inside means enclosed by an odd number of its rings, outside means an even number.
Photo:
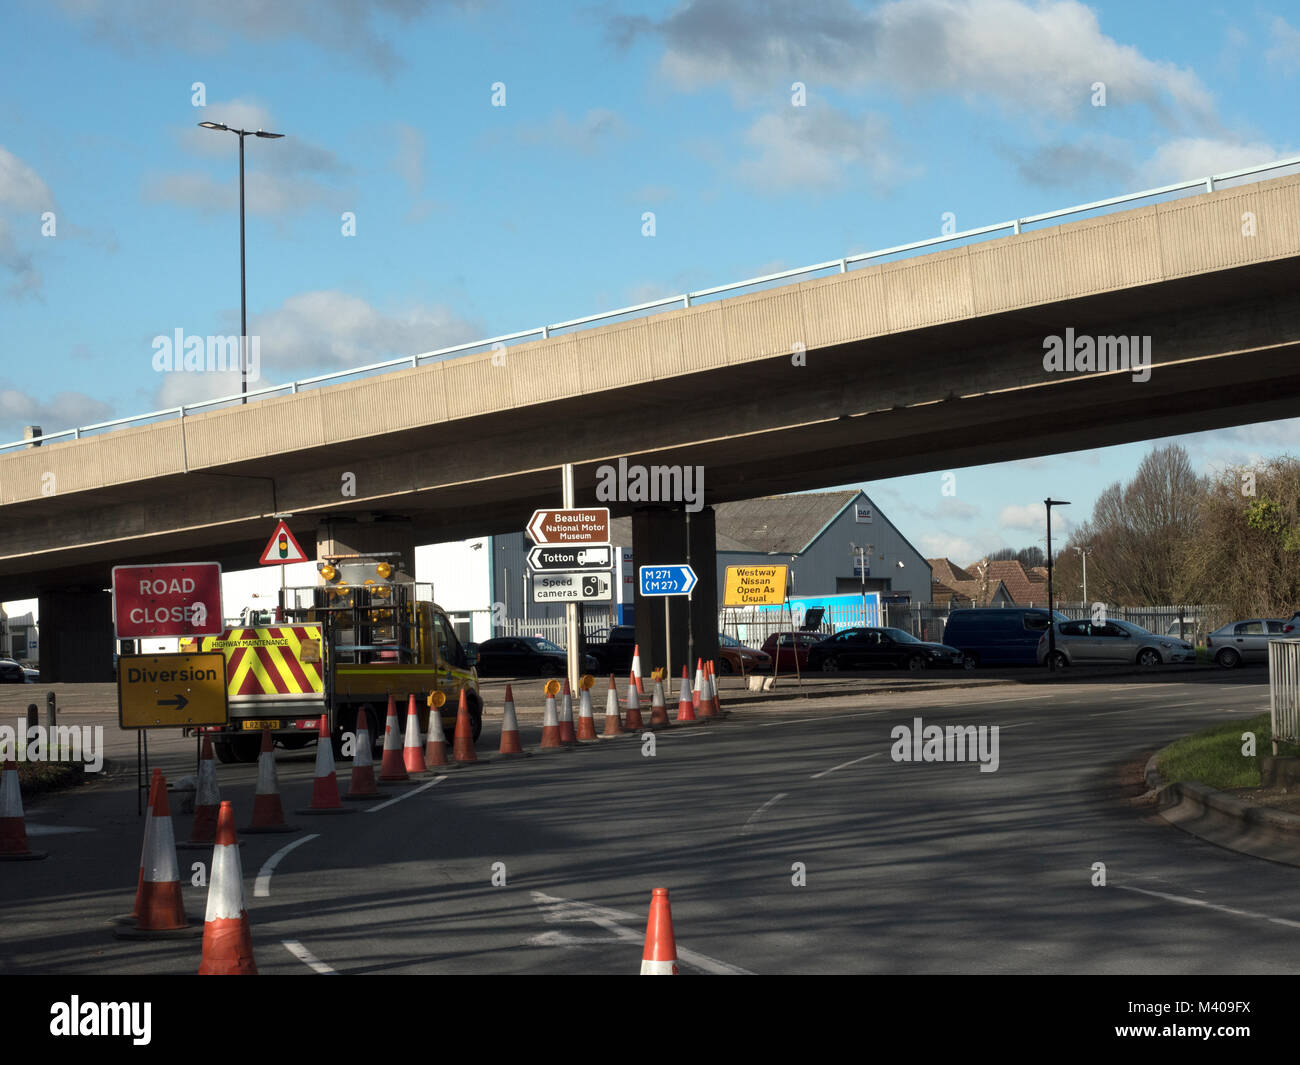
[[[685,973],[1291,973],[1292,869],[1173,831],[1140,800],[1152,752],[1266,701],[1264,671],[737,697],[725,722],[655,733],[653,753],[638,733],[516,761],[491,757],[489,717],[476,766],[243,837],[259,969],[634,973],[663,886]],[[918,717],[997,726],[997,771],[896,761],[894,730]],[[142,824],[134,766],[112,756],[134,740],[105,739],[108,772],[29,804],[51,854],[0,878],[3,973],[198,966],[196,940],[107,923],[130,909]],[[151,753],[192,769],[192,741]],[[286,810],[307,805],[312,765],[277,753]],[[240,826],[255,778],[218,767]],[[182,870],[208,857],[182,852]],[[198,921],[205,889],[183,895]]]

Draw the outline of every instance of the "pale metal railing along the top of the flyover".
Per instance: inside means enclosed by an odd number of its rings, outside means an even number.
[[[806,277],[810,274],[819,273],[848,273],[850,267],[861,265],[864,263],[874,263],[878,260],[890,259],[893,256],[907,256],[913,252],[927,251],[931,248],[941,247],[944,244],[956,244],[961,241],[979,241],[983,238],[993,237],[994,234],[1005,233],[1020,233],[1027,225],[1036,225],[1039,222],[1056,221],[1057,218],[1067,218],[1072,215],[1086,215],[1089,212],[1104,212],[1114,207],[1122,207],[1124,204],[1138,203],[1139,200],[1153,199],[1156,196],[1171,196],[1178,192],[1187,192],[1191,190],[1202,190],[1205,192],[1213,192],[1214,187],[1222,182],[1235,181],[1238,178],[1254,177],[1256,174],[1265,174],[1273,170],[1280,170],[1287,166],[1300,166],[1300,156],[1288,156],[1287,159],[1279,159],[1273,163],[1265,163],[1258,166],[1244,166],[1239,170],[1225,170],[1221,174],[1209,174],[1206,177],[1191,178],[1188,181],[1179,181],[1174,185],[1162,185],[1158,189],[1144,189],[1140,192],[1126,192],[1121,196],[1110,196],[1104,200],[1093,200],[1092,203],[1075,204],[1074,207],[1063,207],[1058,211],[1045,211],[1040,215],[1028,215],[1023,218],[1011,218],[1006,222],[994,222],[993,225],[984,225],[976,229],[963,229],[959,233],[948,233],[940,237],[930,237],[924,241],[913,241],[906,244],[894,244],[893,247],[879,248],[876,251],[859,252],[857,255],[845,255],[840,259],[829,259],[824,263],[814,263],[810,267],[796,267],[789,270],[779,270],[777,273],[763,274],[762,277],[749,277],[744,281],[732,281],[727,285],[715,285],[710,289],[699,289],[693,293],[682,293],[681,295],[664,296],[662,299],[651,299],[645,303],[634,303],[630,307],[619,307],[614,311],[603,311],[598,315],[585,315],[578,319],[569,319],[568,321],[558,321],[554,325],[540,325],[536,329],[521,329],[517,333],[503,333],[499,337],[489,337],[482,341],[469,341],[467,343],[452,345],[451,347],[439,347],[436,351],[424,351],[419,355],[403,355],[399,359],[387,359],[382,363],[370,363],[363,367],[355,367],[354,369],[341,369],[334,373],[321,373],[315,377],[304,377],[300,381],[290,381],[285,385],[269,385],[263,389],[252,389],[251,391],[240,395],[222,395],[216,399],[204,399],[198,403],[185,403],[179,407],[164,407],[157,411],[148,411],[147,414],[130,415],[127,417],[117,417],[110,421],[96,421],[92,425],[82,425],[75,429],[62,429],[57,433],[42,433],[40,436],[34,436],[27,440],[10,441],[9,443],[0,443],[0,451],[8,451],[16,447],[36,447],[47,441],[56,440],[79,440],[81,437],[98,433],[103,429],[116,429],[126,425],[133,425],[144,421],[157,421],[160,419],[179,417],[185,419],[187,415],[205,410],[208,407],[220,407],[226,403],[239,403],[242,399],[252,399],[255,397],[268,397],[268,395],[282,395],[285,393],[298,394],[303,389],[312,388],[316,385],[324,385],[330,382],[343,381],[348,377],[358,377],[361,375],[382,373],[395,369],[415,369],[422,363],[434,362],[438,359],[447,359],[455,355],[472,355],[480,354],[486,350],[504,347],[512,341],[528,341],[528,339],[547,339],[555,333],[562,333],[569,329],[578,329],[585,325],[595,325],[597,322],[612,321],[615,319],[632,317],[637,315],[644,315],[647,311],[659,311],[670,307],[692,307],[693,304],[707,300],[711,296],[722,296],[729,293],[737,293],[744,289],[753,289],[759,285],[772,285],[780,281],[790,281],[797,277]]]

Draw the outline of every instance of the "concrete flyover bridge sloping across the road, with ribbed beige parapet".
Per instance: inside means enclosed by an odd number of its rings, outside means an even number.
[[[40,594],[42,638],[55,640],[110,566],[246,567],[277,511],[334,546],[515,531],[559,502],[566,462],[580,503],[595,502],[597,468],[624,455],[702,466],[716,503],[1300,412],[1300,176],[841,265],[504,356],[415,359],[10,449],[0,598]],[[1048,371],[1050,337],[1136,338],[1149,378]],[[614,510],[636,512],[638,562],[681,560],[680,508]],[[712,557],[710,516],[693,516],[696,559]],[[703,572],[699,588],[712,588]]]

